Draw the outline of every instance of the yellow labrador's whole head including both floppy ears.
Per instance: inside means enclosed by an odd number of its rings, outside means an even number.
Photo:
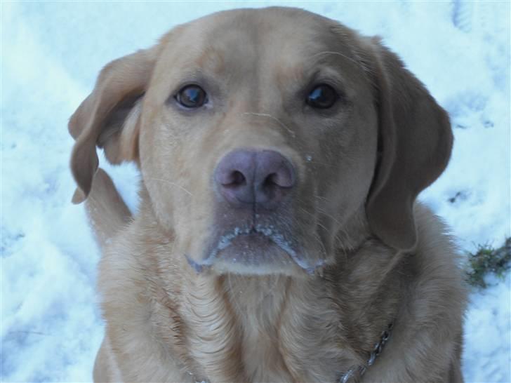
[[[85,195],[136,161],[201,271],[314,271],[364,235],[409,250],[449,119],[378,39],[293,8],[215,13],[107,65],[69,123]]]

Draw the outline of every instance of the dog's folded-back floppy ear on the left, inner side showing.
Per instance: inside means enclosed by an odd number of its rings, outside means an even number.
[[[100,72],[93,92],[71,116],[69,133],[76,140],[71,169],[81,194],[75,202],[91,191],[99,164],[96,145],[105,149],[111,163],[138,161],[141,100],[156,56],[152,48],[110,62]]]

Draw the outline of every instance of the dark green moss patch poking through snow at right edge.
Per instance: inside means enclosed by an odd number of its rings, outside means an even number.
[[[475,253],[467,253],[468,270],[467,281],[470,285],[478,288],[486,288],[484,277],[495,274],[503,278],[507,270],[511,268],[511,237],[505,240],[500,248],[479,245]]]

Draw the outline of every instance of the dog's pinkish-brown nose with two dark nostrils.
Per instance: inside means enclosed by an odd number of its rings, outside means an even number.
[[[274,150],[239,149],[218,163],[215,182],[234,207],[273,209],[291,192],[296,175],[291,161]]]

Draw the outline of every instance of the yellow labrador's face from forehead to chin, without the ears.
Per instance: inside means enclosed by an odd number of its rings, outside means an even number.
[[[220,13],[161,52],[140,165],[176,250],[198,267],[312,270],[368,194],[371,85],[333,25],[303,16]]]

